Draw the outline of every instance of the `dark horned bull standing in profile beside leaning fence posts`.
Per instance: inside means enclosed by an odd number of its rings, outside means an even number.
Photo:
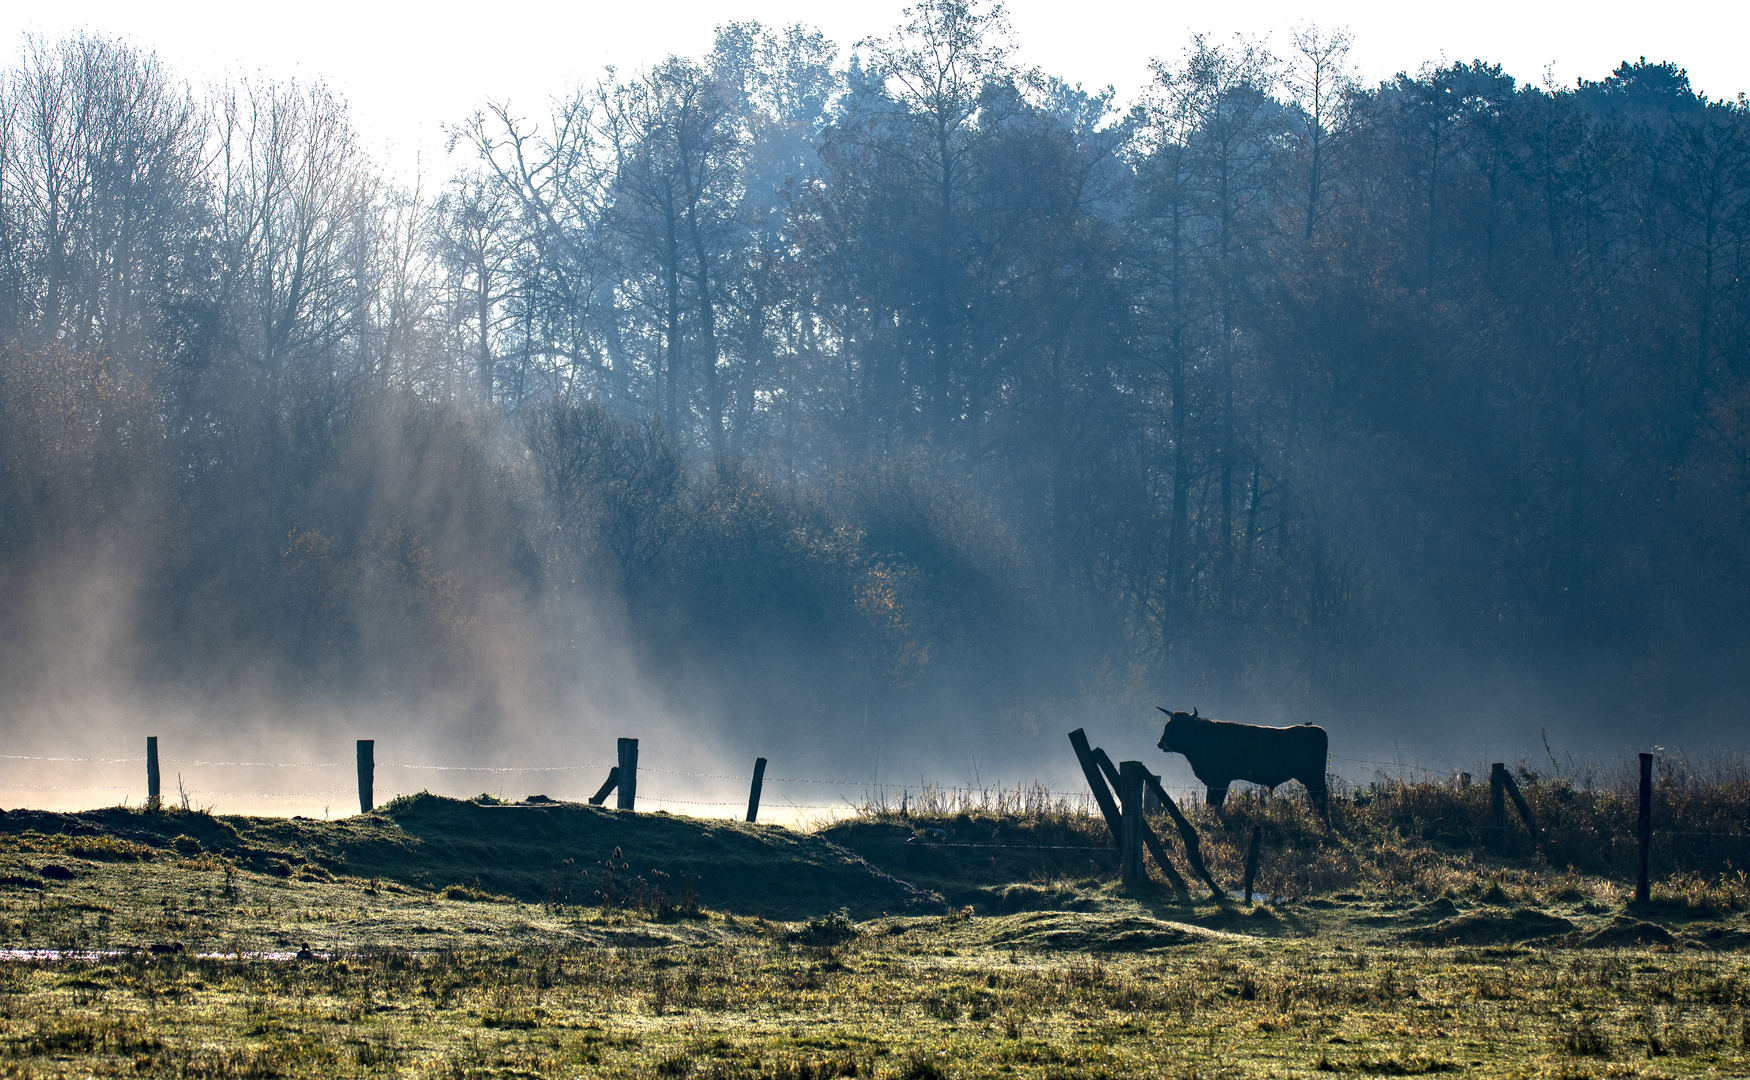
[[[1160,705],[1155,705],[1160,709]],[[1325,758],[1330,739],[1325,728],[1304,723],[1293,728],[1264,728],[1250,723],[1228,723],[1190,712],[1169,712],[1167,728],[1160,733],[1160,749],[1185,754],[1197,779],[1209,786],[1209,805],[1222,809],[1227,786],[1250,781],[1276,789],[1278,784],[1300,781],[1312,807],[1330,823],[1330,803],[1325,789]]]

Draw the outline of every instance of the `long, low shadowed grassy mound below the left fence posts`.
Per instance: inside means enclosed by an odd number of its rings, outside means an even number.
[[[774,824],[665,812],[630,814],[560,802],[481,803],[436,795],[394,800],[340,821],[103,809],[12,810],[0,831],[66,835],[94,858],[126,851],[212,854],[282,877],[382,879],[458,898],[796,919],[845,908],[866,919],[938,912],[910,886],[826,837]],[[116,856],[103,856],[105,845]]]

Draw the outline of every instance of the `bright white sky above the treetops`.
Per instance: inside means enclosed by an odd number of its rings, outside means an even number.
[[[156,49],[196,82],[224,75],[320,77],[345,95],[354,121],[383,163],[429,179],[450,168],[441,124],[486,100],[544,112],[548,98],[592,82],[604,65],[646,67],[665,54],[698,54],[712,30],[735,19],[770,26],[808,23],[849,47],[886,33],[905,0],[670,0],[626,4],[382,4],[306,0],[240,5],[233,0],[75,0],[0,4],[0,42],[28,32],[93,30]],[[58,11],[56,11],[58,9]],[[1129,100],[1148,79],[1148,60],[1176,58],[1192,33],[1269,37],[1288,51],[1288,28],[1318,23],[1354,35],[1353,61],[1368,82],[1423,61],[1482,58],[1522,81],[1600,79],[1645,54],[1689,68],[1713,98],[1750,91],[1750,4],[1699,0],[1664,9],[1643,0],[1253,0],[1234,7],[1124,0],[1082,7],[1062,0],[1010,0],[1018,60],[1087,88],[1115,86]]]

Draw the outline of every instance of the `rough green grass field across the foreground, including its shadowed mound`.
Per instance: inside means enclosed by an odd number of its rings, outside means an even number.
[[[1293,800],[1199,812],[1222,880],[1270,823],[1255,905],[1125,894],[1050,807],[12,812],[0,1075],[1750,1075],[1743,875],[1666,868],[1634,907],[1414,800],[1328,833]]]

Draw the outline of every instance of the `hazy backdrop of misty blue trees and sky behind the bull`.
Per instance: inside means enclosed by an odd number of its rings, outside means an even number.
[[[0,802],[1741,749],[1740,11],[1010,11],[26,26]]]

